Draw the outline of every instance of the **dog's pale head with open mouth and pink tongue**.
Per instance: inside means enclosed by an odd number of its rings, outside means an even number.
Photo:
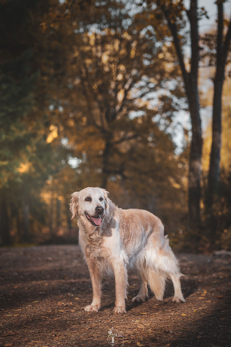
[[[107,209],[108,192],[102,188],[88,187],[71,196],[72,218],[85,217],[95,227],[100,226]]]

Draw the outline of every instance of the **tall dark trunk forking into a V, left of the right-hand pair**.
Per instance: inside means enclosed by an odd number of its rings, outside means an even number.
[[[173,41],[176,48],[176,53],[179,59],[180,68],[182,71],[186,95],[188,97],[190,115],[192,120],[192,143],[189,158],[189,188],[188,188],[188,210],[189,220],[192,228],[200,227],[201,225],[201,155],[202,155],[202,131],[201,118],[199,114],[199,96],[198,96],[198,52],[199,52],[199,36],[198,36],[198,19],[197,19],[197,0],[191,0],[190,9],[187,11],[187,16],[190,22],[191,36],[191,70],[186,71],[184,57],[181,51],[181,45],[177,33],[177,26],[172,20],[170,9],[163,3],[159,2],[159,6],[163,10],[168,22],[168,26],[172,33]]]

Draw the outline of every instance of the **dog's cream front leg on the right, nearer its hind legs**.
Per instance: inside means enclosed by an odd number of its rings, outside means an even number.
[[[113,271],[115,274],[116,301],[113,309],[114,313],[126,313],[125,297],[127,286],[127,270],[123,259],[113,259]]]

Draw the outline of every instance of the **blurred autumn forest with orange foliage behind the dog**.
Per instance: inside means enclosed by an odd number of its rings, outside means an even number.
[[[101,186],[179,250],[231,248],[231,25],[216,9],[199,36],[196,0],[0,1],[2,245],[77,242],[70,194]]]

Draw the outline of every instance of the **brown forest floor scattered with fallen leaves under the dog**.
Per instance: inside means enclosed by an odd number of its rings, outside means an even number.
[[[185,303],[150,293],[132,303],[139,278],[129,274],[127,313],[113,314],[114,279],[105,279],[102,307],[87,313],[92,290],[79,246],[0,249],[0,346],[231,346],[231,257],[178,254]],[[123,338],[122,338],[123,335]]]

